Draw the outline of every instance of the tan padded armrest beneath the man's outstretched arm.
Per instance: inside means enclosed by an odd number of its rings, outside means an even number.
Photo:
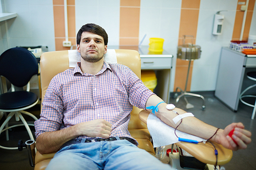
[[[145,124],[147,123],[147,117],[150,114],[150,112],[146,110],[142,110],[139,113],[139,118],[142,122]],[[232,151],[229,149],[224,148],[221,144],[214,143],[216,149],[218,150],[218,165],[223,165],[228,163],[232,158]],[[187,143],[187,142],[177,142],[177,144],[180,148],[185,150],[190,155],[194,156],[198,160],[200,160],[203,163],[208,164],[215,164],[216,163],[216,155],[214,152],[214,147],[209,142],[204,143]]]

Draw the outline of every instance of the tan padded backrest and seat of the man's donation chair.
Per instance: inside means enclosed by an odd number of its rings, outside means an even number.
[[[134,50],[115,50],[117,63],[130,67],[140,78],[140,55]],[[46,52],[41,55],[40,71],[41,71],[41,89],[42,101],[51,79],[59,72],[69,68],[69,51]],[[146,125],[139,119],[139,112],[142,109],[134,107],[131,112],[131,120],[129,123],[129,131],[131,135],[139,142],[138,147],[155,155],[153,144],[151,143],[150,133]],[[55,153],[35,155],[35,169],[45,169],[53,158]]]

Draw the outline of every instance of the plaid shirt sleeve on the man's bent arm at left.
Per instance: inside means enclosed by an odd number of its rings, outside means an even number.
[[[44,132],[53,132],[60,129],[63,119],[63,102],[61,99],[61,86],[53,78],[48,86],[40,118],[35,121],[36,138]]]

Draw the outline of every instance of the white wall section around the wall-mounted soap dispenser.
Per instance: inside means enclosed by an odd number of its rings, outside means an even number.
[[[221,35],[212,35],[214,14],[217,11],[224,15]],[[215,90],[220,52],[222,46],[229,46],[232,40],[237,1],[234,0],[201,0],[196,43],[201,46],[202,54],[194,61],[191,91]]]

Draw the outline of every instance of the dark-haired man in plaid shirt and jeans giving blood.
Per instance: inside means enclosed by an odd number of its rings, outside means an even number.
[[[170,169],[136,147],[127,130],[130,112],[132,105],[157,106],[156,116],[176,128],[176,111],[185,111],[166,109],[167,104],[130,68],[104,62],[107,44],[108,35],[97,25],[87,24],[78,31],[81,62],[52,79],[35,122],[37,150],[41,154],[59,150],[47,169]],[[228,136],[234,128],[232,138],[238,144]],[[211,141],[231,150],[245,149],[251,142],[251,133],[241,123],[217,130],[195,117],[185,117],[178,129],[205,139],[212,136]]]

